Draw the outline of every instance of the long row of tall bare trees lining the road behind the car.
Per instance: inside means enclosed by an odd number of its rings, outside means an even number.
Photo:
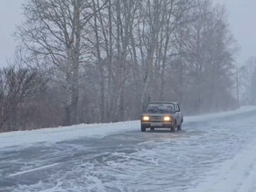
[[[189,114],[236,107],[237,46],[224,6],[30,0],[24,15],[19,57],[45,82],[18,103],[24,127],[137,120],[153,100],[177,100]]]

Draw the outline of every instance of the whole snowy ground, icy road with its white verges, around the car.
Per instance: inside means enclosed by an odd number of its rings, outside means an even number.
[[[255,107],[175,133],[82,127],[0,134],[0,191],[256,191]]]

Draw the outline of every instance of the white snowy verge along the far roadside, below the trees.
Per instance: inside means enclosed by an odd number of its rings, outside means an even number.
[[[236,111],[184,117],[184,122],[186,124],[188,122],[213,120],[219,117],[255,110],[256,106],[244,106]],[[82,137],[103,137],[110,134],[137,130],[139,131],[139,120],[107,124],[81,124],[70,127],[44,128],[32,131],[17,131],[0,134],[0,148],[12,146],[24,147],[25,145],[32,145],[37,142],[59,142],[75,140]]]

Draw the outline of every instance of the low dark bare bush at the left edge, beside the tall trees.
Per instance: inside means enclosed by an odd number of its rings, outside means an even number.
[[[39,73],[19,65],[0,70],[0,132],[18,130],[18,107],[42,87]]]

